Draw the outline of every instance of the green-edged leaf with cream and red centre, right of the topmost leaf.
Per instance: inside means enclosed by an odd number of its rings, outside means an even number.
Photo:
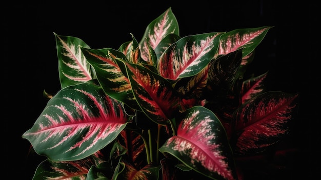
[[[172,80],[196,75],[213,58],[220,34],[205,33],[179,39],[159,57],[159,74]]]

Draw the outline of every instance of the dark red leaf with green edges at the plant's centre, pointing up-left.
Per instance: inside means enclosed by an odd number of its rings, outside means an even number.
[[[166,124],[179,108],[179,96],[172,85],[149,69],[126,63],[132,91],[144,113],[154,122]]]

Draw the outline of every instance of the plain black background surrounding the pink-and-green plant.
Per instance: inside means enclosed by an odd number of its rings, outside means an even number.
[[[102,1],[104,2],[104,1]],[[60,89],[54,32],[83,39],[92,49],[114,48],[139,41],[147,25],[169,7],[180,36],[238,28],[274,26],[257,47],[251,69],[269,71],[270,90],[300,93],[299,112],[286,143],[295,153],[282,176],[271,179],[311,179],[321,166],[319,110],[319,42],[314,26],[320,23],[317,6],[309,1],[136,1],[75,4],[47,2],[3,5],[1,85],[5,173],[7,178],[32,179],[43,157],[29,154],[22,134],[30,129],[47,104],[43,91]],[[269,179],[269,177],[262,177]]]

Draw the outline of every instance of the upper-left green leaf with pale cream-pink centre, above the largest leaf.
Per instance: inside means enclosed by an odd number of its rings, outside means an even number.
[[[92,79],[91,67],[79,46],[89,46],[77,37],[54,33],[58,56],[58,71],[61,87],[85,83]]]

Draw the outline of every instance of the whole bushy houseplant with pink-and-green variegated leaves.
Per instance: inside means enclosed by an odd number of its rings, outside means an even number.
[[[118,49],[54,33],[61,90],[22,135],[47,157],[33,179],[243,179],[297,112],[247,72],[270,28],[180,37],[168,8]]]

